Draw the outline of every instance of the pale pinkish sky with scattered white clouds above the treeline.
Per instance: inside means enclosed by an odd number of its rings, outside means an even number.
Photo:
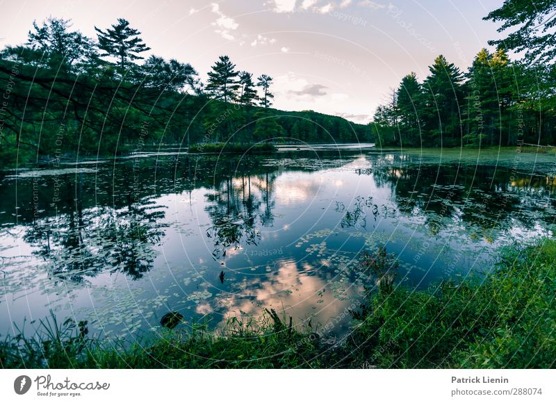
[[[463,71],[498,26],[502,0],[0,1],[0,47],[22,44],[33,20],[72,19],[96,38],[118,17],[142,32],[145,53],[190,63],[203,80],[218,56],[273,77],[274,107],[369,122],[402,77],[424,79],[443,54]]]

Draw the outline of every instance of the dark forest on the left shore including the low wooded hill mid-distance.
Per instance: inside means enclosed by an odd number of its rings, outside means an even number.
[[[0,59],[0,163],[97,156],[147,144],[358,142],[370,127],[330,115],[272,108],[272,77],[220,56],[202,83],[194,67],[157,56],[126,19],[97,39],[70,20],[33,23]]]

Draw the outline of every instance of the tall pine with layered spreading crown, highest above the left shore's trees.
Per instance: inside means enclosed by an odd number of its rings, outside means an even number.
[[[131,28],[126,19],[118,18],[117,24],[112,25],[105,31],[97,28],[97,36],[99,38],[99,49],[104,51],[100,56],[113,56],[120,63],[120,72],[125,72],[126,66],[133,60],[142,59],[138,54],[148,51],[151,48],[139,37],[141,34],[138,30]]]

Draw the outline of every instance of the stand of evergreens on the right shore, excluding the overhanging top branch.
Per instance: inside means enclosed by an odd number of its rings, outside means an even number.
[[[468,72],[434,60],[423,83],[405,76],[371,127],[381,147],[489,147],[556,142],[554,69],[481,49]]]

